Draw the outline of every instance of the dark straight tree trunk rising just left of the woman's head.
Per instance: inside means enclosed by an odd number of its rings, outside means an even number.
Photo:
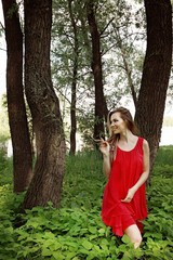
[[[99,32],[94,13],[94,3],[88,3],[88,22],[92,38],[92,72],[94,75],[95,86],[95,123],[94,123],[94,138],[98,139],[105,135],[104,130],[104,116],[105,116],[105,101],[103,90],[103,74],[102,74],[102,57],[101,57],[101,40]]]

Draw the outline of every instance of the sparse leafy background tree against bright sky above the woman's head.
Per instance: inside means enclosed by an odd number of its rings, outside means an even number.
[[[125,96],[136,106],[146,41],[144,8],[136,8],[133,2],[117,1],[116,5],[111,3],[105,10],[106,13],[110,22],[103,35],[109,42],[103,48],[106,54],[104,73],[107,73],[106,78],[114,89],[107,94],[106,87],[106,100],[112,107]]]

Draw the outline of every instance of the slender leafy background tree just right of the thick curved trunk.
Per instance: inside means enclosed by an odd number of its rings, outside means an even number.
[[[83,96],[88,98],[89,87],[84,81],[89,81],[88,78],[91,77],[85,65],[89,58],[83,48],[82,12],[83,3],[78,1],[56,0],[53,5],[52,75],[55,89],[64,104],[63,119],[67,126],[66,141],[69,143],[70,154],[76,151],[76,131],[79,123],[77,117],[79,113],[83,113]]]

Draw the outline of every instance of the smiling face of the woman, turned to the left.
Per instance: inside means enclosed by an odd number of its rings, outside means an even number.
[[[127,123],[121,118],[121,114],[119,112],[116,112],[110,117],[110,128],[112,133],[123,133],[127,130]]]

